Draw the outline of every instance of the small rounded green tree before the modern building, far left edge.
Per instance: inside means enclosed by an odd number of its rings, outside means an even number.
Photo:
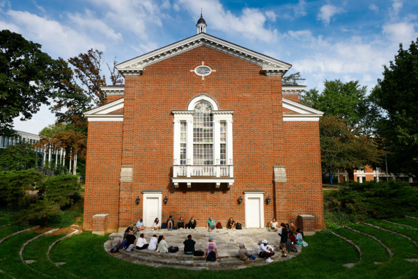
[[[36,167],[38,156],[32,150],[31,144],[18,142],[9,145],[0,153],[0,168],[22,170]]]

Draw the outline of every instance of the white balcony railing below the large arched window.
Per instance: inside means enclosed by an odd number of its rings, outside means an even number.
[[[233,176],[233,165],[173,165],[173,177],[178,176]]]

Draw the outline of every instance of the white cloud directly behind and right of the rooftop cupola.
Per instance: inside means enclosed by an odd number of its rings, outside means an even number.
[[[277,38],[277,29],[271,30],[264,27],[268,16],[258,8],[243,8],[242,15],[238,17],[230,10],[225,10],[219,0],[178,0],[178,4],[194,17],[197,17],[203,8],[203,18],[210,28],[226,33],[239,33],[245,38],[265,42],[272,42]],[[210,33],[209,28],[208,33]]]

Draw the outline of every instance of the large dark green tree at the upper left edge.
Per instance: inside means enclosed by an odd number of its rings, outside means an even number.
[[[41,45],[9,30],[0,31],[0,133],[13,135],[13,119],[31,119],[49,105],[54,60]]]

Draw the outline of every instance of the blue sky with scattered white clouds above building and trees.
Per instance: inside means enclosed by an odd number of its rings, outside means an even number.
[[[418,1],[401,0],[0,1],[0,29],[54,58],[93,47],[104,62],[122,62],[196,34],[201,8],[207,33],[293,64],[289,73],[300,72],[308,89],[334,79],[371,89],[398,44],[418,38]],[[15,128],[38,133],[51,123],[42,106],[30,121],[15,119]]]

